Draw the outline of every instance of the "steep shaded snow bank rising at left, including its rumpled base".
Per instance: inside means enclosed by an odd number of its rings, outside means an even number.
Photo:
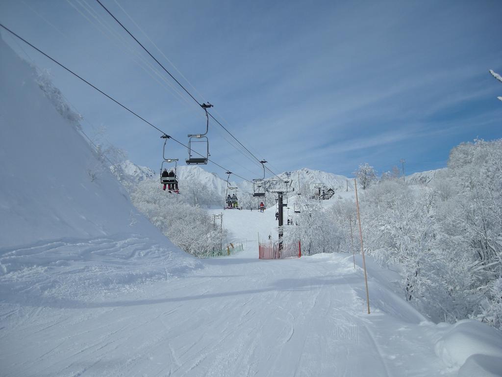
[[[2,293],[80,277],[131,281],[197,265],[138,213],[34,73],[0,40]]]

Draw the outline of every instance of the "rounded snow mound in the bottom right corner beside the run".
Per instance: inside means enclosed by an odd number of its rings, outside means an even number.
[[[502,333],[481,322],[457,322],[435,350],[448,366],[461,367],[461,376],[502,375]]]

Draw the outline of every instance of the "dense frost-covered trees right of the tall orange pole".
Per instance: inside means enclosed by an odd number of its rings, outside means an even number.
[[[453,148],[448,168],[429,184],[387,179],[360,198],[367,253],[398,266],[403,297],[433,320],[502,327],[501,161],[502,140],[474,140]],[[347,251],[343,205],[333,218]]]

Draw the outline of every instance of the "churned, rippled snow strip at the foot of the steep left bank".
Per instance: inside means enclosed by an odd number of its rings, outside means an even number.
[[[126,289],[139,281],[183,274],[197,265],[195,259],[177,263],[172,251],[136,234],[40,242],[0,249],[0,293],[14,301],[19,292],[75,298],[104,287]]]

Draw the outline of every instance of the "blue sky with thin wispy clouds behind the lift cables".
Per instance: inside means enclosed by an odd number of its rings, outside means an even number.
[[[276,173],[350,175],[364,162],[382,172],[401,158],[411,173],[445,166],[461,142],[502,137],[502,85],[488,73],[502,73],[500,1],[103,4]],[[201,108],[165,72],[145,68],[158,67],[94,0],[3,0],[0,21],[176,139],[204,131]],[[104,126],[131,160],[160,167],[158,131],[2,36],[50,70],[87,133]],[[220,126],[208,136],[211,159],[260,176]],[[187,157],[170,144],[170,156]]]

